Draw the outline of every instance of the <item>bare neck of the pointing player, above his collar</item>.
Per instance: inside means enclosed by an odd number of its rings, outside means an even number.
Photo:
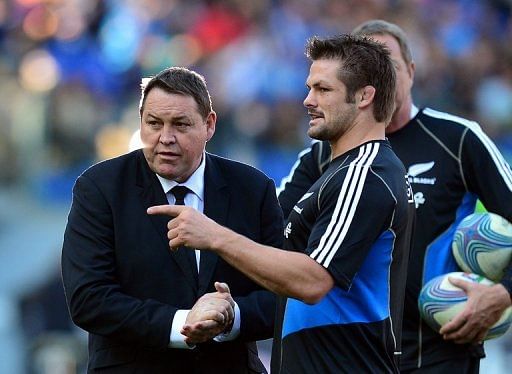
[[[331,141],[332,158],[336,158],[343,153],[360,146],[371,140],[384,140],[385,135],[384,122],[367,121],[352,126],[337,140]]]

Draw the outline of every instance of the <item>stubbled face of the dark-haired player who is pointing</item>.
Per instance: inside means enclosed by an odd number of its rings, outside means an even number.
[[[345,84],[338,79],[340,63],[320,59],[311,64],[304,106],[311,118],[308,135],[313,139],[336,141],[354,125],[357,107],[347,102],[353,100],[347,100]]]

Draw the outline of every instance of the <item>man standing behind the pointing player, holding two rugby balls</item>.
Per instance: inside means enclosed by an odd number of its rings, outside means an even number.
[[[396,107],[386,136],[408,168],[416,201],[416,230],[407,279],[401,371],[403,373],[478,373],[479,344],[511,305],[512,265],[495,286],[453,280],[465,290],[468,304],[439,332],[420,318],[418,295],[433,277],[458,271],[451,254],[453,233],[474,211],[477,198],[485,207],[512,221],[512,172],[493,142],[473,121],[430,108],[419,110],[411,88],[414,62],[405,33],[382,20],[370,20],[353,31],[371,36],[389,49],[397,73]],[[327,142],[301,152],[281,184],[279,201],[285,216],[329,167]],[[278,344],[274,351],[278,349]],[[273,363],[274,365],[274,363]]]

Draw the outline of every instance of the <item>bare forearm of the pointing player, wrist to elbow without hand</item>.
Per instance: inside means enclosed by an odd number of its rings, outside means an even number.
[[[329,272],[303,253],[261,245],[221,226],[217,229],[210,249],[276,294],[316,303],[334,284]]]

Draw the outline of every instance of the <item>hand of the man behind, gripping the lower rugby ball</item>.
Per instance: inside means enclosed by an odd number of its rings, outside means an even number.
[[[449,280],[466,292],[468,301],[466,307],[444,325],[439,333],[445,340],[453,340],[457,344],[483,341],[489,328],[511,305],[508,291],[499,283],[485,286],[452,277]]]

